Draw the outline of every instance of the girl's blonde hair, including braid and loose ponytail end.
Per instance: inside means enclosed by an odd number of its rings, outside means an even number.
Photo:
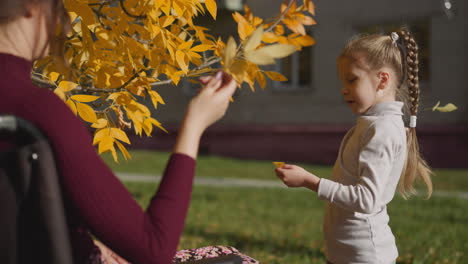
[[[390,35],[362,35],[351,39],[339,57],[356,59],[362,55],[371,69],[390,67],[396,74],[396,96],[404,102],[405,112],[418,114],[419,78],[418,45],[406,29],[400,30],[394,42]],[[407,129],[407,158],[400,177],[398,190],[406,199],[416,193],[415,180],[422,180],[427,188],[427,198],[432,194],[432,170],[421,156],[416,128]]]

